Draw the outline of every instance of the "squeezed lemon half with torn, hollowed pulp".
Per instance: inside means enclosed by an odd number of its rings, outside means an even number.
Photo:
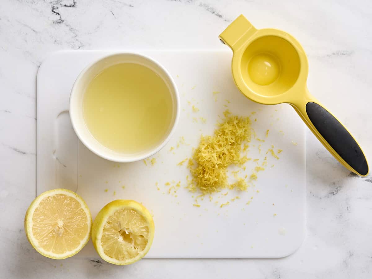
[[[115,200],[104,206],[94,219],[92,241],[106,262],[125,265],[137,262],[150,250],[154,221],[138,202]]]

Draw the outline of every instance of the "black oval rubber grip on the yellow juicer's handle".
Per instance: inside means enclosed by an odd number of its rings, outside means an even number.
[[[361,175],[368,173],[367,160],[352,135],[325,108],[314,102],[306,104],[310,121],[341,158]]]

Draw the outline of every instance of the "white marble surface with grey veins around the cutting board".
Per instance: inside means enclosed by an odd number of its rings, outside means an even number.
[[[35,197],[35,77],[48,53],[60,49],[219,49],[219,32],[244,13],[257,28],[283,29],[301,42],[310,91],[371,160],[371,1],[229,2],[0,1],[1,278],[372,277],[372,179],[350,174],[310,132],[307,237],[289,257],[144,259],[119,267],[47,259],[26,240],[23,217]]]

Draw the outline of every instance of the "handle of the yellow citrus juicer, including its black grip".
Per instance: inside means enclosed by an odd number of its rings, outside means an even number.
[[[307,94],[302,105],[294,106],[325,148],[348,170],[360,176],[368,174],[368,163],[362,148],[349,131],[324,106]]]

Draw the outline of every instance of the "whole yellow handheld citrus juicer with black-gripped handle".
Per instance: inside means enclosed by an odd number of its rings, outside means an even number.
[[[308,91],[307,57],[294,37],[276,29],[258,30],[240,15],[219,39],[232,49],[232,76],[246,97],[265,105],[288,103],[341,164],[360,176],[368,174],[359,144]]]

